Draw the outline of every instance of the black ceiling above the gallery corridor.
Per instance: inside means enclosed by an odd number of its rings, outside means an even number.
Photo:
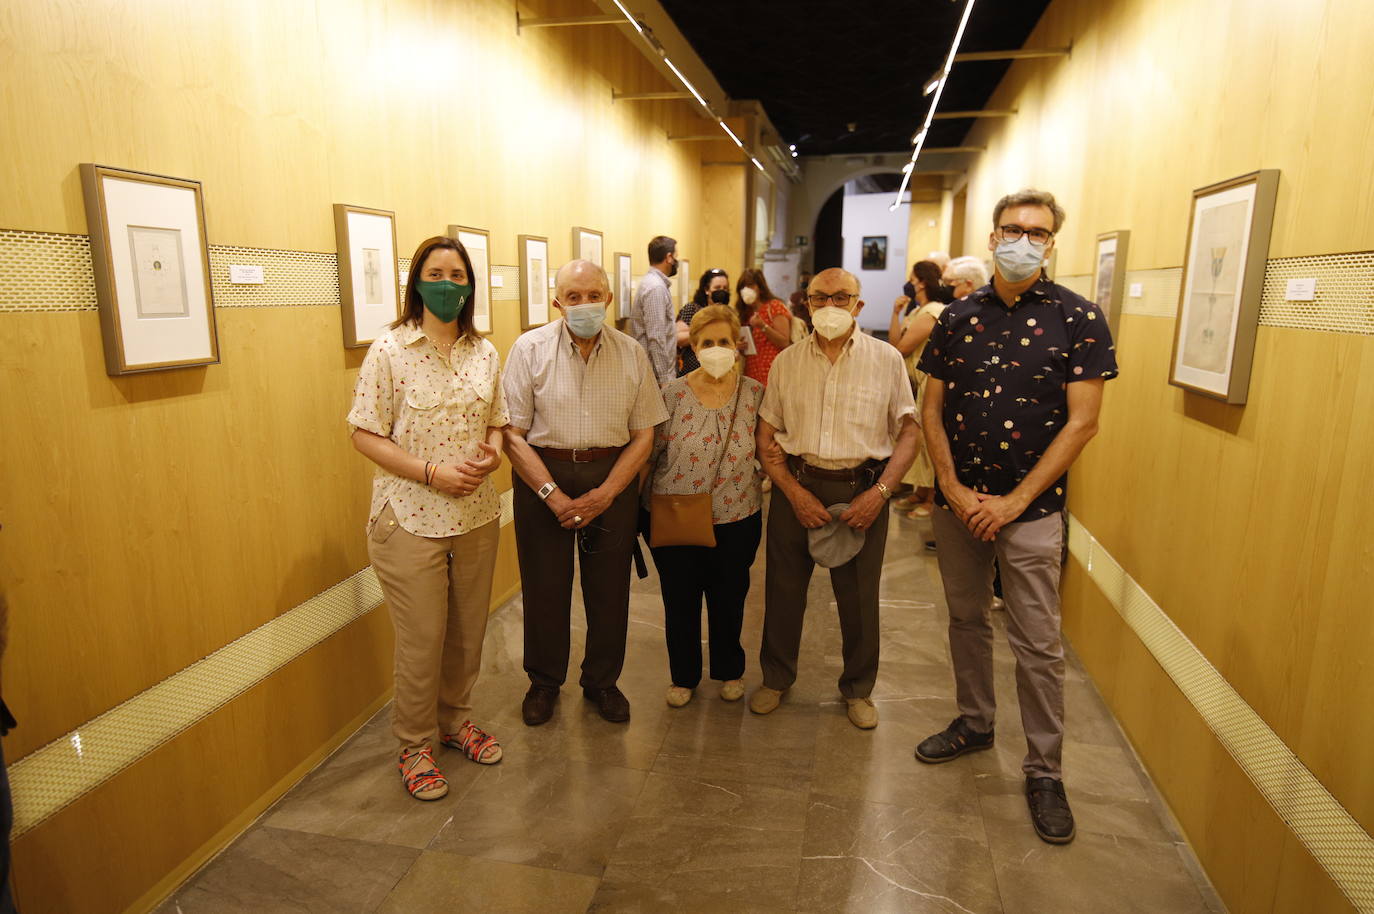
[[[951,0],[660,0],[732,99],[758,99],[802,155],[911,148],[963,15]],[[980,0],[960,51],[1020,48],[1048,0]],[[981,109],[1009,60],[956,63],[941,111]],[[853,129],[849,129],[849,125]],[[959,146],[971,120],[932,125]]]

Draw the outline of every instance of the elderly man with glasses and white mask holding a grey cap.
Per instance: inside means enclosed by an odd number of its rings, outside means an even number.
[[[778,708],[797,679],[807,588],[816,559],[811,531],[844,525],[856,553],[830,568],[844,636],[840,694],[849,720],[878,726],[868,697],[878,678],[878,583],[888,499],[916,455],[916,404],[901,355],[856,333],[859,279],[826,269],[807,296],[815,333],[774,360],[758,408],[758,454],[774,482],[768,513],[763,686],[749,709]],[[779,493],[782,498],[779,498]],[[845,506],[831,514],[834,506]],[[841,539],[844,539],[841,537]]]

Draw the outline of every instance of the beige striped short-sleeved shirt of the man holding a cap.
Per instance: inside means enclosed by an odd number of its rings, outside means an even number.
[[[901,353],[857,328],[834,364],[816,334],[783,349],[758,407],[783,451],[827,470],[892,456],[901,421],[915,415]]]

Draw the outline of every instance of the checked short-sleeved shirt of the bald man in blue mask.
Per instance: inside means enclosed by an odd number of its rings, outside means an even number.
[[[644,348],[603,327],[583,361],[562,319],[530,330],[506,359],[510,421],[536,448],[610,448],[668,418]]]

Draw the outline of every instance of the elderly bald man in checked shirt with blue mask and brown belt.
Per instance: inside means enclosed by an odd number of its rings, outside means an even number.
[[[530,682],[521,715],[532,727],[552,716],[567,676],[574,553],[587,613],[583,694],[606,720],[629,720],[616,680],[629,625],[635,482],[668,411],[643,348],[605,324],[610,301],[606,271],[587,260],[565,264],[554,283],[562,320],[523,334],[506,361]]]

